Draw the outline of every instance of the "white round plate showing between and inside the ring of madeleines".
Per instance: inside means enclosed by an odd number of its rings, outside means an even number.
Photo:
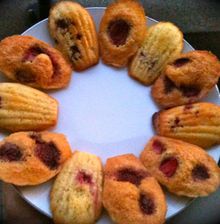
[[[88,10],[98,30],[105,8]],[[147,23],[151,26],[157,21],[148,18]],[[34,36],[53,45],[47,30],[47,20],[37,23],[24,35]],[[185,41],[184,51],[190,50],[193,50],[192,46]],[[84,72],[74,72],[68,88],[50,91],[49,94],[59,101],[58,125],[52,131],[64,133],[73,150],[94,153],[102,158],[103,163],[108,157],[119,154],[133,153],[139,156],[154,135],[151,116],[159,108],[150,96],[150,87],[132,80],[127,75],[127,69],[108,67],[100,61]],[[217,88],[205,100],[219,104]],[[220,156],[217,147],[208,152],[215,160]],[[36,187],[18,188],[25,200],[48,216],[51,216],[49,190],[52,181]],[[169,193],[166,193],[166,197],[167,218],[177,214],[190,202],[189,198]],[[111,221],[104,214],[98,223],[107,224]]]

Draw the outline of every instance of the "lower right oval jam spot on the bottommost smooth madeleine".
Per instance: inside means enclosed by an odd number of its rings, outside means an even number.
[[[155,212],[154,201],[148,195],[140,195],[139,206],[141,211],[146,215],[152,215]]]

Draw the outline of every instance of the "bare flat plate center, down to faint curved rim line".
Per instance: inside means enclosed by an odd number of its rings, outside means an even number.
[[[69,138],[103,144],[151,134],[157,109],[150,88],[132,80],[126,69],[100,63],[75,72],[68,88],[51,95],[60,104],[56,131]]]

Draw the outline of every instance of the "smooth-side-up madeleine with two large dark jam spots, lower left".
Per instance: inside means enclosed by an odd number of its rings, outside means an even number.
[[[63,134],[17,132],[0,142],[0,179],[15,185],[37,185],[54,177],[71,156]]]

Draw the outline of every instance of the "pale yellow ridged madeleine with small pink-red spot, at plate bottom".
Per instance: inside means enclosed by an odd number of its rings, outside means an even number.
[[[74,152],[57,176],[50,194],[56,224],[93,224],[102,210],[102,164],[99,157]]]

